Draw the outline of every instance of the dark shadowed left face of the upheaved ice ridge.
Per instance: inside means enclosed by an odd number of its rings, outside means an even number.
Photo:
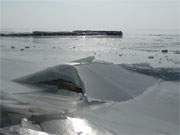
[[[84,93],[84,84],[77,70],[70,65],[55,66],[14,81],[31,85],[55,85],[60,89]]]

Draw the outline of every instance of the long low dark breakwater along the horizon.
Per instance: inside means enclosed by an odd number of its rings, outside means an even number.
[[[123,36],[122,31],[93,31],[93,30],[76,30],[76,31],[33,31],[30,33],[0,33],[0,36],[26,37],[26,36]]]

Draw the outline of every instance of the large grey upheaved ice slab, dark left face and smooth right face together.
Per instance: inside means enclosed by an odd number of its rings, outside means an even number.
[[[15,81],[37,86],[53,85],[60,90],[63,87],[86,93],[90,98],[125,101],[140,95],[155,84],[156,79],[128,71],[120,65],[95,62],[76,66],[58,65]]]

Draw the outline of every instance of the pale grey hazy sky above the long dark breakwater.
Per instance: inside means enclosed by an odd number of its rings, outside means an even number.
[[[0,0],[1,29],[177,29],[179,0]]]

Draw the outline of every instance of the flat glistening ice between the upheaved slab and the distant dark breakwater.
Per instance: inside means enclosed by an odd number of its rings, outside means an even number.
[[[40,37],[2,38],[5,58],[27,60],[51,66],[87,56],[113,63],[150,63],[158,67],[179,67],[179,35],[177,33],[125,33],[121,38],[106,37]],[[12,48],[12,46],[14,48]],[[26,48],[26,47],[30,48]],[[21,51],[20,49],[24,49]],[[168,53],[162,53],[162,50]],[[153,59],[149,59],[153,56]]]

